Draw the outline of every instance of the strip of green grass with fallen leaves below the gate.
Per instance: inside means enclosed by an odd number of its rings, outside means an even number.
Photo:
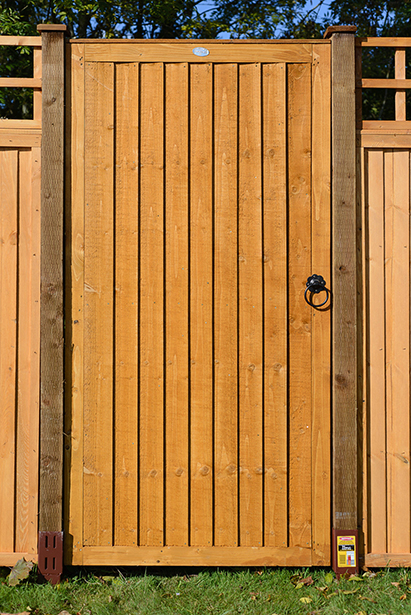
[[[185,573],[184,573],[185,572]],[[0,584],[0,613],[35,615],[411,614],[411,571],[339,582],[329,569],[72,570],[57,586]],[[308,583],[299,579],[308,579]],[[306,581],[307,582],[307,581]],[[303,600],[301,600],[303,599]]]

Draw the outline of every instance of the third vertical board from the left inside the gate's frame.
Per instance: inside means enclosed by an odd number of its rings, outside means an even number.
[[[140,69],[140,543],[164,544],[164,67]]]

